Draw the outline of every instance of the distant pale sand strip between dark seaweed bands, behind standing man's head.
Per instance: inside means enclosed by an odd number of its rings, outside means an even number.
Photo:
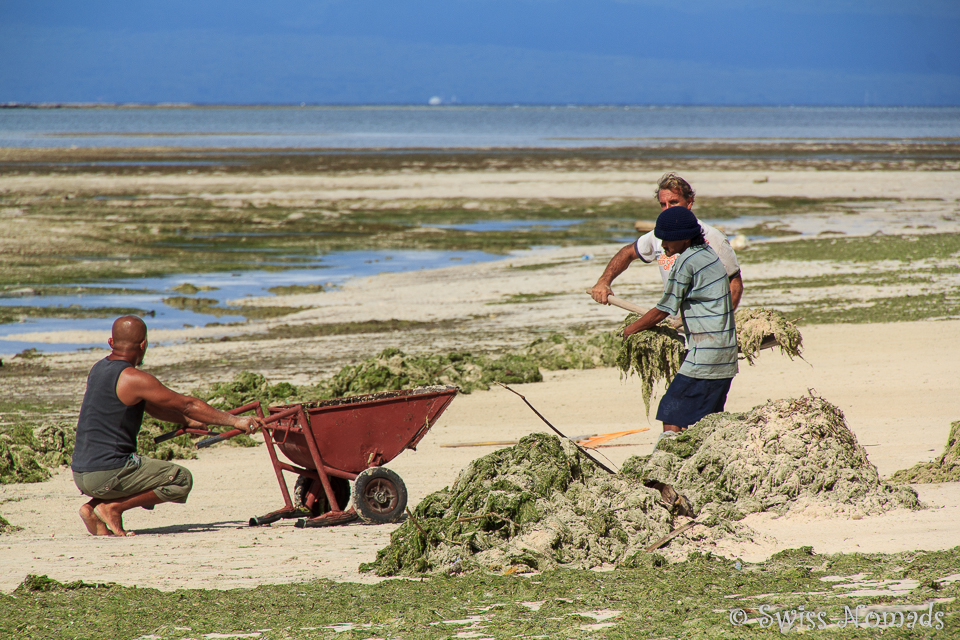
[[[272,202],[424,198],[650,198],[662,172],[463,171],[341,176],[0,176],[0,192],[143,193]],[[685,171],[704,196],[944,198],[956,171]],[[765,180],[765,181],[764,181]]]

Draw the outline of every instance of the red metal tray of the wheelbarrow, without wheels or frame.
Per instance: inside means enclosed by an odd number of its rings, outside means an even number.
[[[352,480],[365,469],[389,463],[405,449],[416,449],[457,391],[455,386],[432,386],[301,403],[309,436],[296,415],[278,420],[271,435],[291,462],[316,470],[307,441],[312,437],[325,471]],[[297,406],[267,411],[275,415]]]

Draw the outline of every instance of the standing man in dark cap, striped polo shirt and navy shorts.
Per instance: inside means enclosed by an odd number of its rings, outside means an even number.
[[[660,400],[657,420],[664,432],[679,432],[704,416],[723,411],[737,375],[737,330],[730,280],[706,244],[693,212],[670,207],[657,218],[654,235],[668,257],[676,256],[657,306],[624,329],[624,337],[680,315],[687,357]]]

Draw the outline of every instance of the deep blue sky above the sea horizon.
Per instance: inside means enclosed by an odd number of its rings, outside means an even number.
[[[0,0],[0,102],[960,105],[958,0]]]

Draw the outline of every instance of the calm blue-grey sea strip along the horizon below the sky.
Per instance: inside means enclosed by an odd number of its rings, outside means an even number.
[[[956,107],[0,108],[2,147],[557,148],[960,138]]]

